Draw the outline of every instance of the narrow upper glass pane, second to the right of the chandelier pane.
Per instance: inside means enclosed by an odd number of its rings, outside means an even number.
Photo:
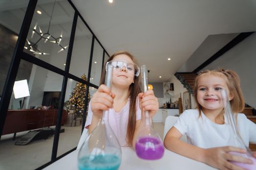
[[[98,43],[98,41],[95,39],[92,64],[91,64],[91,77],[90,77],[90,83],[94,85],[100,85],[102,59],[103,59],[103,49]]]

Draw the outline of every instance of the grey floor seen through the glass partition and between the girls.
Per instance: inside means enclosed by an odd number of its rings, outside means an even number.
[[[163,138],[164,124],[154,122],[153,127]],[[81,135],[81,126],[63,126],[62,128],[65,132],[60,134],[57,156],[75,148]],[[12,135],[1,136],[0,170],[34,170],[50,161],[53,137],[46,140],[33,140],[27,145],[15,145],[15,142],[26,133],[18,133],[16,140],[12,140]]]

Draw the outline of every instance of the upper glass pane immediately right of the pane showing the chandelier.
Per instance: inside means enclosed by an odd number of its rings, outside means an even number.
[[[88,75],[92,34],[78,17],[69,72],[78,77]]]

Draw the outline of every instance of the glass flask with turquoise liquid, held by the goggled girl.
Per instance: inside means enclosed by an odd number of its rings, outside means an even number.
[[[106,66],[105,85],[111,89],[113,66]],[[103,112],[96,128],[86,138],[78,153],[79,170],[118,170],[122,159],[120,144]]]

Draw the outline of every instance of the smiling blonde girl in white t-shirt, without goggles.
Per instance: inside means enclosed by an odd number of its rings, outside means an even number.
[[[204,162],[221,170],[243,170],[229,161],[252,164],[250,159],[229,154],[245,153],[234,146],[234,138],[225,124],[224,110],[220,90],[226,89],[233,113],[244,109],[244,98],[238,75],[232,70],[206,70],[195,79],[193,95],[197,109],[185,110],[167,133],[164,145],[167,149]],[[249,146],[256,143],[256,124],[244,114],[236,117],[239,132]],[[188,143],[180,137],[186,134]],[[256,154],[255,154],[256,156]]]

